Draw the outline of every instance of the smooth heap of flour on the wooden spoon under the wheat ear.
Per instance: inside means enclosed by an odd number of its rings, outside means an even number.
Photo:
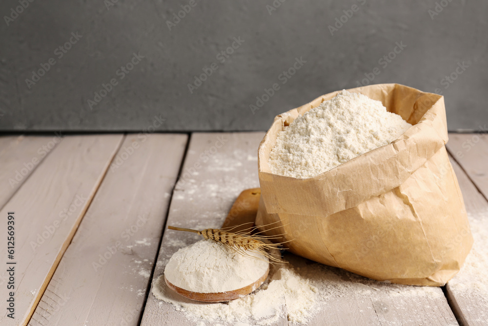
[[[188,291],[237,290],[258,281],[269,266],[263,255],[248,254],[258,259],[244,257],[212,240],[200,240],[178,250],[168,261],[164,275],[170,283]]]

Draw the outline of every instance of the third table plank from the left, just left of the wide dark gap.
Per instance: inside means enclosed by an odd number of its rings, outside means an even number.
[[[126,137],[29,325],[138,324],[186,141]]]

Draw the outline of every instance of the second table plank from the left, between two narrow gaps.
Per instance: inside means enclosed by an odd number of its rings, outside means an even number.
[[[15,212],[16,319],[0,315],[1,325],[25,324],[120,146],[122,135],[66,136],[0,211]],[[6,266],[6,247],[0,248]],[[3,268],[2,268],[3,270]],[[4,279],[5,280],[5,279]],[[5,307],[7,297],[1,296]],[[4,310],[5,311],[5,310]]]

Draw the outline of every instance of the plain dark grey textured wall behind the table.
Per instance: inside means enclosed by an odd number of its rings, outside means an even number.
[[[0,130],[136,131],[155,116],[164,119],[158,130],[266,130],[276,114],[356,87],[375,67],[372,84],[442,92],[449,130],[487,127],[486,0],[287,0],[271,14],[273,0],[197,0],[169,30],[166,21],[189,2],[34,0],[7,26],[20,4],[2,0]],[[331,35],[328,26],[353,4]],[[72,32],[81,39],[58,59]],[[234,37],[244,43],[221,63]],[[407,46],[384,67],[379,60],[397,42]],[[144,58],[121,80],[117,70],[134,52]],[[279,75],[296,57],[306,63],[283,85]],[[25,79],[50,58],[56,64],[29,89]],[[468,68],[447,82],[463,62]],[[218,69],[191,94],[187,84],[212,63]],[[118,85],[90,109],[112,78]],[[249,105],[274,83],[280,89],[253,114]]]

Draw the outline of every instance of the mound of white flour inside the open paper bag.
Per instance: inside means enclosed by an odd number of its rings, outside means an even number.
[[[381,101],[343,90],[278,133],[269,166],[274,174],[312,177],[391,143],[410,127]]]

